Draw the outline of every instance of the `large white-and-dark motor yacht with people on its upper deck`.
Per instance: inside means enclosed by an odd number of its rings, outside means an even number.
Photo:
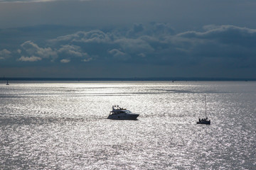
[[[126,108],[120,108],[118,105],[114,105],[107,118],[113,120],[137,120],[138,116],[139,114],[132,113]]]

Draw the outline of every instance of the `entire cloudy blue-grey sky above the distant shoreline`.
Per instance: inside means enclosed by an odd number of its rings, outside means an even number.
[[[255,0],[0,0],[0,77],[256,79]]]

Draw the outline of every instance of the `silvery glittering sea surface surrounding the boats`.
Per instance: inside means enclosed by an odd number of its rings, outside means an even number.
[[[5,83],[0,169],[256,169],[256,82]]]

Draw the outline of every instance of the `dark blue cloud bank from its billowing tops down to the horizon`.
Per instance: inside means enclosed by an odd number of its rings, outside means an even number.
[[[180,33],[167,23],[135,23],[55,36],[41,33],[19,37],[16,44],[7,39],[0,42],[0,71],[9,77],[256,79],[256,30],[238,26]]]

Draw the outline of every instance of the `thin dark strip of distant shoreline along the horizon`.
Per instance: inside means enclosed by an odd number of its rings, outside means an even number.
[[[197,77],[134,77],[134,78],[37,78],[1,77],[0,81],[256,81],[244,78],[197,78]]]

